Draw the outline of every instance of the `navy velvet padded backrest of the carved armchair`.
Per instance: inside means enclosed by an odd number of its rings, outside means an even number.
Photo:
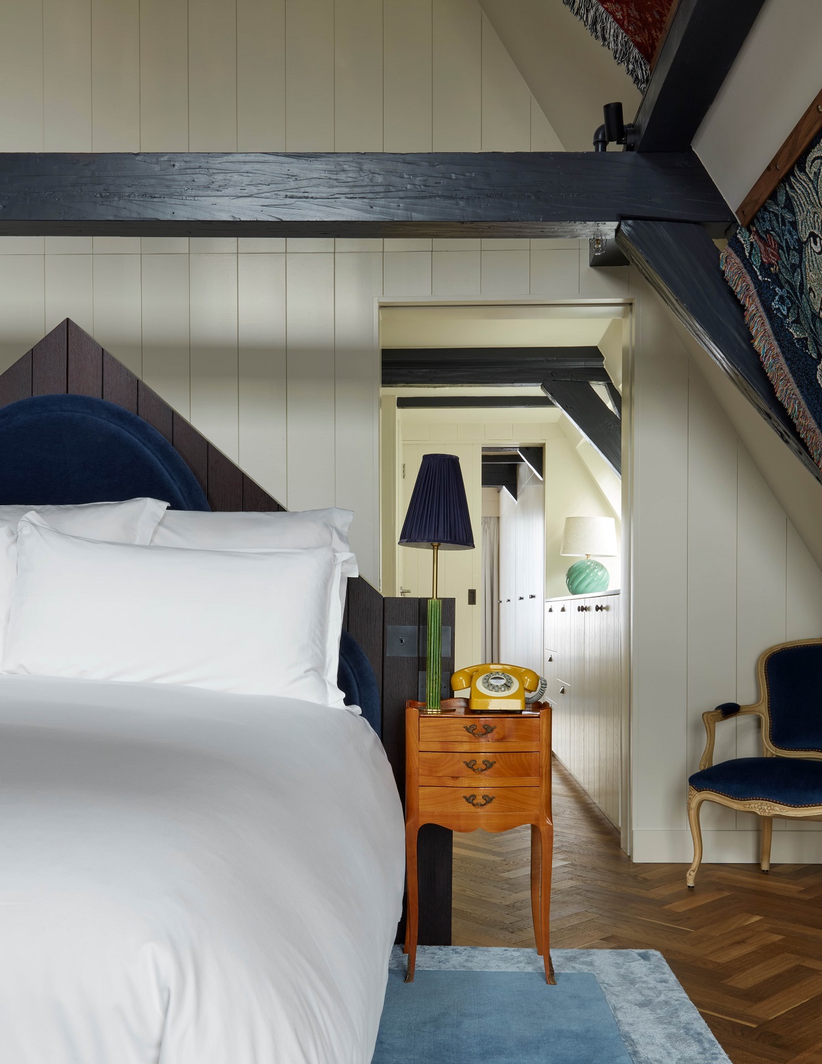
[[[822,750],[822,644],[774,650],[765,679],[773,745]]]

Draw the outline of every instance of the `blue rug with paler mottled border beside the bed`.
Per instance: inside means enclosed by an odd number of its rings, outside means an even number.
[[[396,947],[372,1064],[729,1064],[653,950]]]

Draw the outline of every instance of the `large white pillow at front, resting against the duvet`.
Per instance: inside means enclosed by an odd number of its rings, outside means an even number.
[[[32,514],[17,554],[4,672],[335,701],[324,675],[339,565],[330,547],[99,543]]]

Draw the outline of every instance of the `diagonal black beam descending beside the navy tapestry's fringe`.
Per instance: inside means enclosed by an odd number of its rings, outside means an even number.
[[[710,237],[699,226],[626,221],[617,239],[685,328],[822,481],[822,471],[762,369],[742,307],[725,282],[719,251]]]

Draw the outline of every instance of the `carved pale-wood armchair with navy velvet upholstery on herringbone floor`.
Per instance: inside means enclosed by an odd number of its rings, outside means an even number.
[[[725,702],[702,714],[707,733],[700,770],[688,780],[688,822],[693,864],[686,882],[693,886],[702,862],[700,807],[715,801],[761,818],[760,867],[771,866],[773,817],[822,819],[822,639],[779,643],[756,664],[759,701]],[[717,722],[742,715],[761,719],[762,757],[714,764]]]

